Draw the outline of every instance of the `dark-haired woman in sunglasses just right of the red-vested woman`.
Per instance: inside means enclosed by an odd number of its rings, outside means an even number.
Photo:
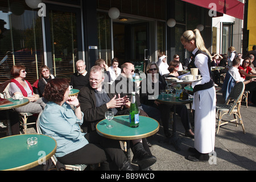
[[[44,88],[46,87],[46,84],[49,80],[54,79],[54,76],[50,73],[50,70],[47,67],[47,65],[42,65],[40,67],[40,77],[41,79],[38,81],[38,90],[39,96],[43,97]]]

